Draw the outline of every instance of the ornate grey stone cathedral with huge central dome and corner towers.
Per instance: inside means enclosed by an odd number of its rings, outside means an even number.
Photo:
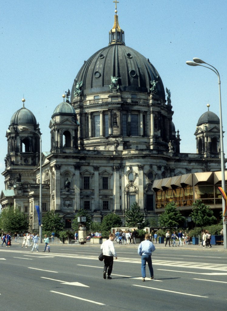
[[[50,152],[43,152],[41,165],[43,213],[58,213],[66,229],[80,209],[88,211],[93,221],[101,222],[108,213],[115,213],[125,224],[125,211],[133,202],[139,204],[145,219],[156,218],[160,213],[155,206],[156,191],[175,189],[182,174],[220,169],[216,115],[208,111],[199,118],[197,153],[180,153],[171,92],[150,60],[125,45],[117,10],[109,45],[84,62],[66,101],[65,97],[53,107]],[[0,202],[2,207],[21,206],[35,230],[39,139],[21,131],[19,125],[39,132],[28,109],[23,107],[13,115]],[[17,183],[14,176],[18,173],[21,180]],[[190,180],[185,178],[183,186]],[[21,189],[20,198],[15,196],[16,187]],[[185,216],[191,209],[187,207]]]

